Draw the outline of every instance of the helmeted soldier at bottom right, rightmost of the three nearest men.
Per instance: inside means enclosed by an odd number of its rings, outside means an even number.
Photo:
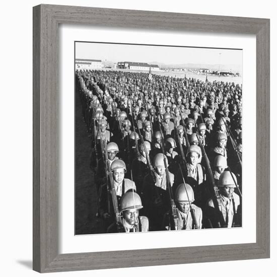
[[[231,175],[232,174],[232,175]],[[209,199],[206,203],[206,216],[209,219],[210,226],[213,228],[220,227],[231,228],[241,226],[241,215],[239,212],[240,197],[234,192],[237,178],[234,173],[224,171],[218,180],[218,188],[221,197],[220,213],[216,211],[214,201]],[[219,218],[221,217],[221,218]]]

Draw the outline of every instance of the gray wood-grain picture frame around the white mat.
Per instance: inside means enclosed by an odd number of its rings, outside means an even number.
[[[58,26],[256,35],[256,243],[58,254]],[[269,257],[269,19],[39,5],[33,8],[33,269],[39,272]]]

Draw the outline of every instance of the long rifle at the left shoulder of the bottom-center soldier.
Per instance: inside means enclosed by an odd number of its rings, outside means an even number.
[[[164,134],[162,132],[160,122],[158,122],[158,125],[159,125],[159,129],[160,129],[160,132],[161,132],[161,148],[162,148],[162,152],[163,152],[163,156],[164,156],[164,166],[165,166],[165,173],[166,173],[166,185],[167,185],[169,198],[170,198],[171,214],[172,214],[172,217],[173,217],[175,230],[178,230],[177,207],[176,207],[176,204],[174,202],[172,187],[171,187],[170,178],[169,178],[169,171],[168,171],[167,163],[166,163],[166,155],[165,155],[165,150],[164,150]]]

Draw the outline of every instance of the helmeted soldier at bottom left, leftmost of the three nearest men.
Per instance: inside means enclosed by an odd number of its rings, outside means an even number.
[[[126,192],[120,200],[121,222],[120,230],[125,233],[148,232],[149,221],[145,216],[139,216],[139,210],[143,208],[140,196],[132,191]],[[107,233],[117,233],[118,227],[113,223],[107,230]]]

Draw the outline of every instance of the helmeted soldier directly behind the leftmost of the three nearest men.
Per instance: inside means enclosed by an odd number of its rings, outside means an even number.
[[[124,193],[127,191],[136,191],[136,187],[133,181],[124,178],[124,175],[126,173],[126,165],[122,160],[116,160],[114,161],[110,166],[110,171],[112,172],[112,180],[116,197],[117,197],[117,204],[120,209],[120,199]],[[107,193],[107,189],[105,186],[102,186],[101,189],[101,201],[100,201],[100,216],[103,219],[109,219],[111,217],[111,214],[107,210],[107,200],[110,199],[111,201],[111,194]]]

